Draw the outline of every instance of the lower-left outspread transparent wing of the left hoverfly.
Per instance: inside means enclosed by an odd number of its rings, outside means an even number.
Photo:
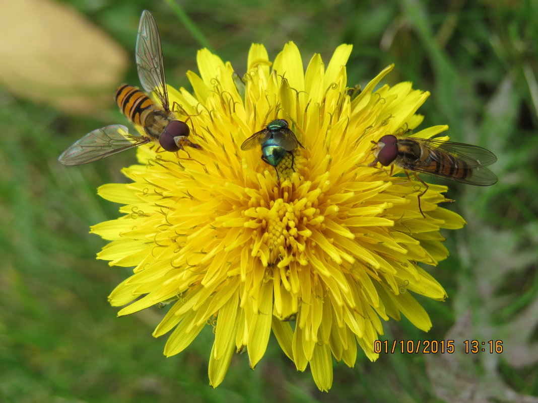
[[[150,139],[143,136],[129,135],[128,128],[123,125],[105,126],[75,141],[58,157],[58,161],[69,166],[87,164],[138,147],[148,141]]]

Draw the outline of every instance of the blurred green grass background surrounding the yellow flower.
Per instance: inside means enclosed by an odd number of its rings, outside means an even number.
[[[169,4],[66,3],[131,55],[140,12],[151,10],[168,82],[188,86],[185,72],[196,70],[195,52],[203,45]],[[105,242],[88,227],[118,217],[118,205],[98,197],[96,188],[123,182],[119,170],[134,161],[134,152],[76,168],[56,161],[84,133],[125,119],[119,112],[115,120],[73,117],[0,88],[0,401],[538,401],[537,3],[181,3],[210,46],[238,70],[253,41],[274,57],[293,40],[305,62],[314,52],[328,61],[338,44],[353,44],[350,85],[364,86],[395,63],[385,82],[409,80],[431,91],[419,111],[426,115],[421,127],[448,124],[452,140],[498,156],[496,185],[450,184],[448,196],[457,203],[448,207],[469,224],[443,233],[451,256],[429,268],[449,294],[444,303],[420,299],[433,329],[426,334],[405,319],[391,321],[383,339],[502,340],[504,351],[382,354],[375,363],[359,353],[353,369],[335,364],[332,390],[321,393],[309,371],[296,372],[272,338],[255,371],[246,355],[235,356],[214,390],[207,378],[210,329],[182,354],[164,358],[165,337],[151,336],[163,311],[117,319],[107,303],[129,270],[95,260]],[[134,62],[125,81],[138,83]]]

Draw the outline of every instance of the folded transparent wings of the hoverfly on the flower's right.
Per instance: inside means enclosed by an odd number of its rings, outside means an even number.
[[[435,139],[418,139],[413,140],[420,142],[424,147],[430,150],[429,160],[440,162],[443,165],[449,165],[454,172],[445,173],[442,170],[436,171],[431,165],[413,165],[414,171],[424,172],[426,174],[441,176],[454,179],[457,182],[466,183],[476,186],[490,186],[497,183],[497,175],[486,168],[497,161],[497,157],[490,150],[473,146],[470,144],[456,143],[451,141],[440,141]],[[441,153],[448,154],[449,157],[443,158]],[[429,167],[429,168],[428,168]],[[458,170],[470,170],[470,174],[465,178],[457,177]]]

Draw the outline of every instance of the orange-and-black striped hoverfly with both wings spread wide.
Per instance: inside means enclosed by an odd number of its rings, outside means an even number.
[[[189,126],[177,120],[169,109],[162,48],[157,23],[151,12],[144,10],[138,26],[136,42],[138,76],[144,90],[155,92],[160,105],[144,92],[129,84],[116,90],[116,102],[132,123],[144,128],[145,135],[130,135],[123,125],[105,126],[84,135],[58,158],[63,165],[81,165],[110,155],[155,142],[163,149],[175,152],[189,146],[201,147],[188,139]]]

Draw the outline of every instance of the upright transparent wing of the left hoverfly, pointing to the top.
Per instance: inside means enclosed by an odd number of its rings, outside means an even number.
[[[151,12],[144,10],[138,26],[136,40],[136,64],[140,84],[146,92],[155,92],[162,107],[169,110],[168,91],[164,63],[162,62],[161,39],[157,23]]]

